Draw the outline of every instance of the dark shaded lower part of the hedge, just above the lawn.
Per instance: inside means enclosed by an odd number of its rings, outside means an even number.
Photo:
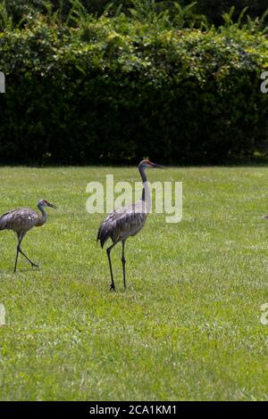
[[[267,134],[267,111],[252,109],[261,106],[248,84],[256,75],[248,76],[225,94],[215,94],[213,80],[200,89],[194,78],[157,88],[137,78],[95,77],[65,91],[58,80],[36,77],[19,86],[9,78],[18,95],[2,101],[0,161],[132,163],[149,156],[207,164],[248,157],[264,149]]]

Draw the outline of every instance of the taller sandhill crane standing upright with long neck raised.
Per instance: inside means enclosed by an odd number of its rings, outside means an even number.
[[[163,168],[159,164],[152,163],[149,160],[142,160],[138,165],[138,170],[142,178],[143,190],[141,200],[127,207],[116,209],[112,214],[110,214],[105,221],[99,227],[96,241],[98,240],[101,243],[101,247],[104,248],[105,242],[109,238],[112,239],[113,244],[108,247],[106,250],[110,274],[111,274],[111,286],[110,291],[115,291],[114,281],[113,281],[113,267],[111,260],[111,251],[113,247],[121,242],[121,263],[123,271],[123,283],[124,288],[126,289],[126,271],[125,271],[125,242],[128,237],[138,234],[138,232],[143,228],[147,218],[148,207],[150,206],[151,196],[150,191],[147,185],[147,176],[145,170],[147,168]]]

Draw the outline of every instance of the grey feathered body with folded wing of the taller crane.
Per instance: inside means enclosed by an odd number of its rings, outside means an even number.
[[[99,227],[96,241],[100,240],[103,248],[109,237],[113,242],[116,242],[129,235],[135,235],[144,226],[146,218],[147,211],[139,202],[116,209],[105,218],[105,221]]]

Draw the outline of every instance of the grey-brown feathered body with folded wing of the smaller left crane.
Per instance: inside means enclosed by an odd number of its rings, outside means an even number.
[[[0,230],[13,230],[15,232],[20,232],[21,230],[28,231],[37,225],[38,220],[38,213],[33,209],[13,209],[12,211],[6,212],[0,218]]]

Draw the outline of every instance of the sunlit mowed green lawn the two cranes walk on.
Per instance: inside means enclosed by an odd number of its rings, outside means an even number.
[[[2,400],[255,400],[268,396],[268,168],[150,170],[183,182],[183,219],[151,214],[112,253],[96,245],[104,218],[86,211],[86,185],[139,181],[137,168],[0,168],[0,212],[36,208],[13,274],[16,240],[0,232]]]

